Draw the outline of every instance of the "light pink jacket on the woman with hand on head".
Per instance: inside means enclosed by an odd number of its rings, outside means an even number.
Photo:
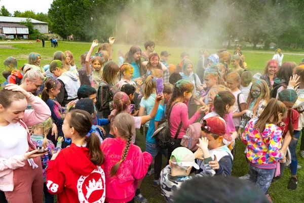
[[[48,105],[38,96],[30,95],[27,101],[31,104],[32,110],[25,110],[24,117],[20,120],[20,124],[27,131],[27,142],[29,149],[34,150],[36,147],[30,141],[30,134],[27,126],[33,126],[47,120],[51,116],[51,110]],[[13,136],[7,135],[7,136]],[[0,157],[0,190],[13,191],[13,172],[15,169],[25,165],[24,161],[27,158],[23,154],[15,155],[9,159]],[[37,163],[36,163],[37,164]],[[40,162],[41,164],[41,162]]]

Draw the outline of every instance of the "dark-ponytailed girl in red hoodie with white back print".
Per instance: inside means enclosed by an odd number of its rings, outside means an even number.
[[[62,130],[72,144],[53,154],[47,168],[48,191],[60,202],[104,202],[104,154],[92,125],[91,115],[83,110],[72,110],[64,119]]]

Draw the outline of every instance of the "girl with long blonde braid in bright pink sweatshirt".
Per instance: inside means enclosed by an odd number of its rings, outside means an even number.
[[[147,173],[152,156],[132,143],[135,122],[128,113],[120,113],[113,122],[115,139],[101,144],[105,161],[106,202],[134,202],[138,180]]]

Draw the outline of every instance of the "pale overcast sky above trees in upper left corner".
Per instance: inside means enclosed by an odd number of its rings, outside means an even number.
[[[14,11],[33,10],[35,13],[48,13],[53,0],[0,0],[0,6],[4,6],[13,15]]]

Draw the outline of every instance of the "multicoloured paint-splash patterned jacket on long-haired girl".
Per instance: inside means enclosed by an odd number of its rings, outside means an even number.
[[[246,157],[255,167],[276,168],[277,161],[283,158],[282,130],[275,124],[266,124],[264,131],[260,133],[254,128],[257,120],[251,119],[242,134],[242,141],[247,145]]]

